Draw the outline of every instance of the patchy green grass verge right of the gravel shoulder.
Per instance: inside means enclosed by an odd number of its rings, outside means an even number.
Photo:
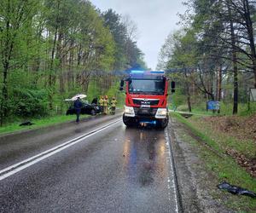
[[[227,181],[232,185],[244,187],[256,192],[255,178],[250,176],[240,165],[236,164],[236,161],[233,158],[225,155],[224,146],[220,144],[219,141],[227,140],[227,137],[223,138],[222,135],[216,135],[213,131],[212,134],[210,134],[209,131],[207,131],[207,128],[202,129],[195,122],[183,118],[177,113],[172,113],[172,117],[176,118],[180,123],[185,124],[191,132],[191,135],[200,138],[201,141],[207,144],[207,146],[212,147],[214,151],[222,155],[219,156],[206,146],[201,146],[202,144],[200,141],[193,141],[193,143],[196,143],[196,146],[199,147],[200,157],[202,162],[204,162],[205,169],[211,172],[218,182]],[[219,140],[216,140],[217,138]],[[230,138],[230,141],[233,141],[232,138]],[[230,143],[227,142],[226,144]],[[234,143],[231,144],[234,146]],[[216,194],[212,194],[212,197],[220,199],[229,209],[235,210],[236,212],[256,212],[256,199],[246,196],[232,195],[227,192],[221,193],[221,197]]]

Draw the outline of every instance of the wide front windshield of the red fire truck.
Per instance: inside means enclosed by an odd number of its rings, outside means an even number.
[[[164,95],[165,81],[163,79],[130,79],[129,93]]]

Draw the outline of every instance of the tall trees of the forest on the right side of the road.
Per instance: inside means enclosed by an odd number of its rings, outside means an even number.
[[[255,112],[248,108],[256,88],[255,1],[185,1],[181,30],[171,32],[160,49],[158,68],[177,82],[173,102],[183,110],[205,110],[220,101],[220,112]],[[249,110],[249,111],[248,111]]]

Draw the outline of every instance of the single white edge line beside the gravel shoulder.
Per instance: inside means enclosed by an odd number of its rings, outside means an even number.
[[[171,153],[171,141],[169,139],[169,136],[168,136],[168,132],[167,130],[165,130],[166,132],[166,145],[167,145],[167,150],[168,150],[168,159],[169,159],[169,163],[170,163],[170,167],[171,167],[171,173],[172,173],[172,186],[171,185],[171,181],[170,179],[168,179],[168,188],[172,187],[173,188],[173,192],[174,192],[174,199],[175,199],[175,212],[178,213],[178,204],[177,204],[177,182],[175,181],[175,177],[174,177],[174,166],[172,164],[172,153]],[[170,198],[169,198],[170,199]]]

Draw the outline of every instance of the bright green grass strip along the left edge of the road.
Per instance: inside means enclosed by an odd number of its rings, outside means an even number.
[[[87,118],[90,115],[81,115],[80,118]],[[0,127],[0,135],[13,133],[20,130],[34,130],[46,126],[51,126],[55,124],[61,124],[68,121],[74,121],[76,119],[76,115],[55,115],[52,117],[46,118],[31,118],[29,119],[33,125],[31,126],[20,126],[21,122],[15,122],[13,124],[7,124],[3,127]]]

